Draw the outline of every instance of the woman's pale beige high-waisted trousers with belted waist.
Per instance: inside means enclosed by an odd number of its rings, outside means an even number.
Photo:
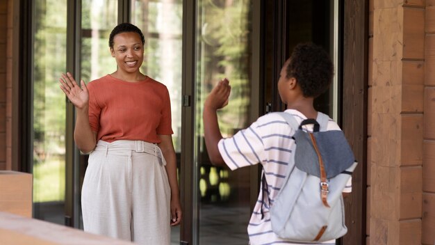
[[[170,186],[156,144],[98,141],[81,194],[86,232],[137,244],[170,244]]]

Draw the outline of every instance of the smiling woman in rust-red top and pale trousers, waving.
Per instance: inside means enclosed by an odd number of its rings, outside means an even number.
[[[177,162],[166,86],[140,72],[145,39],[123,23],[110,33],[117,70],[81,86],[62,74],[76,106],[74,141],[90,152],[82,187],[87,232],[139,244],[170,244],[181,222]]]

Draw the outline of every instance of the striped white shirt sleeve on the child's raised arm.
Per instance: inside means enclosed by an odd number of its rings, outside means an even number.
[[[258,164],[264,154],[263,141],[256,132],[256,122],[231,138],[221,139],[217,147],[231,170]]]

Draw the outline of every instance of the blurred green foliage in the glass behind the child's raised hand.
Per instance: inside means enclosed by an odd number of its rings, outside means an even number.
[[[229,106],[219,111],[220,129],[232,135],[247,126],[249,109],[249,5],[250,1],[201,1],[199,26],[197,122],[202,103],[216,82],[227,77],[231,85]],[[202,128],[202,126],[199,126]]]

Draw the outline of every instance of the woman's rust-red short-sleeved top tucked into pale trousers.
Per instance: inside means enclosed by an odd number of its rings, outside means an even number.
[[[88,84],[89,123],[97,140],[160,143],[173,134],[170,96],[165,85],[147,77],[135,83],[110,75]]]

